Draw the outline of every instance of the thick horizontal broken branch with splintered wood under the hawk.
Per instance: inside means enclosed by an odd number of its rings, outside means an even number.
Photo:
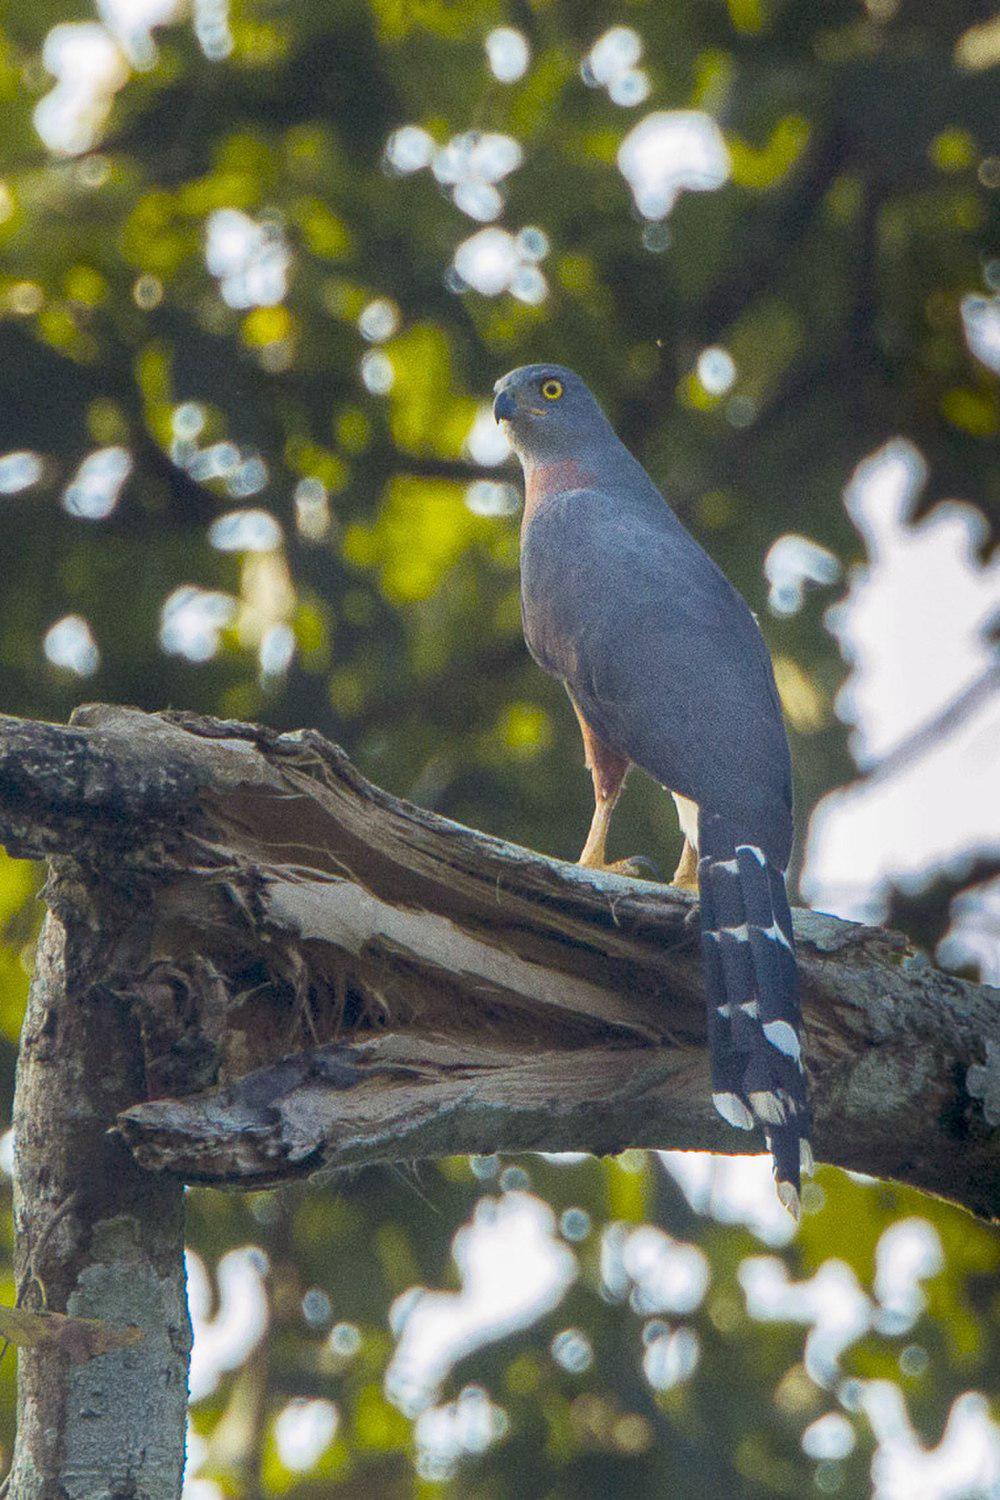
[[[145,1167],[262,1186],[493,1150],[762,1150],[711,1106],[694,903],[423,812],[309,730],[91,706],[0,720],[0,832],[94,910]],[[120,920],[120,916],[118,916]],[[139,940],[141,934],[141,940]],[[822,1161],[1000,1209],[1000,993],[796,912]]]

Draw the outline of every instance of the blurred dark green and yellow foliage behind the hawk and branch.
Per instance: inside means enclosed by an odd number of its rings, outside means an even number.
[[[52,93],[42,50],[54,26],[94,15],[72,0],[10,0],[0,20],[0,454],[36,453],[42,470],[1,496],[4,711],[61,718],[85,696],[313,724],[381,784],[573,856],[589,783],[573,716],[522,645],[517,519],[468,502],[472,483],[496,477],[468,450],[480,404],[505,369],[546,357],[588,376],[762,614],[804,826],[849,774],[832,714],[843,668],[822,596],[790,618],[766,616],[766,549],[801,531],[849,564],[859,543],[844,482],[895,434],[927,456],[931,498],[1000,501],[997,388],[960,316],[961,297],[982,288],[1000,177],[987,154],[990,12],[979,0],[202,3],[153,45],[136,33],[130,58],[127,46],[118,54],[106,118],[97,99],[79,126],[93,141],[60,154],[33,123]],[[645,44],[651,90],[636,110],[580,80],[585,52],[618,22]],[[531,46],[510,84],[484,54],[501,24]],[[73,36],[82,46],[84,33]],[[658,232],[636,216],[615,165],[625,132],[654,108],[712,111],[733,168],[721,190],[682,196]],[[480,226],[429,171],[387,170],[387,140],[405,124],[438,147],[472,129],[520,142],[501,222],[544,231],[543,300],[448,282],[456,248]],[[205,264],[222,210],[270,226],[288,254],[283,294],[243,306],[222,296]],[[361,328],[379,300],[390,321],[372,342]],[[724,394],[696,374],[714,345],[736,363]],[[100,486],[88,513],[73,484],[87,454],[112,447],[132,470],[96,516]],[[280,522],[276,550],[211,546],[211,524],[244,507]],[[211,630],[207,646],[186,636],[187,654],[160,644],[163,604],[186,585],[223,596],[214,652]],[[67,615],[87,621],[99,651],[85,680],[43,651]],[[616,838],[670,867],[669,800],[636,780]],[[31,882],[0,861],[7,1098]],[[765,1252],[750,1230],[693,1212],[655,1161],[526,1170],[556,1214],[589,1215],[580,1278],[555,1312],[450,1376],[445,1396],[478,1382],[508,1418],[507,1434],[450,1480],[426,1464],[417,1473],[412,1422],[382,1392],[387,1312],[414,1284],[454,1284],[453,1234],[498,1182],[447,1162],[418,1179],[364,1173],[255,1200],[193,1192],[192,1245],[210,1266],[234,1245],[262,1246],[271,1306],[268,1338],[195,1410],[210,1444],[202,1473],[228,1496],[300,1500],[442,1486],[480,1500],[868,1494],[873,1436],[850,1404],[850,1455],[802,1450],[804,1428],[837,1398],[802,1368],[801,1324],[748,1316],[739,1269]],[[901,1386],[918,1434],[937,1443],[960,1392],[997,1388],[996,1238],[912,1192],[829,1170],[807,1206],[780,1252],[796,1281],[837,1257],[871,1290],[882,1233],[906,1216],[934,1226],[945,1264],[925,1308],[903,1332],[868,1332],[844,1366]],[[604,1227],[640,1220],[700,1245],[711,1266],[703,1304],[681,1320],[699,1335],[700,1362],[660,1395],[642,1374],[648,1320],[603,1288],[598,1266]],[[7,1299],[9,1233],[4,1216]],[[316,1328],[303,1317],[309,1288],[330,1299]],[[360,1330],[357,1353],[330,1353],[331,1323]],[[594,1350],[577,1374],[550,1353],[567,1328]],[[0,1366],[7,1452],[12,1365]],[[300,1396],[340,1410],[306,1473],[285,1468],[274,1438],[279,1412]]]

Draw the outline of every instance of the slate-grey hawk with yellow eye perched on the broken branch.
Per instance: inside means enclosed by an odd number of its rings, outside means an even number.
[[[607,828],[631,765],[673,794],[675,884],[700,892],[712,1100],[730,1125],[762,1126],[798,1216],[813,1158],[784,884],[792,771],[768,648],[579,375],[526,364],[495,392],[525,472],[525,640],[565,684],[594,778],[580,862],[613,868]]]

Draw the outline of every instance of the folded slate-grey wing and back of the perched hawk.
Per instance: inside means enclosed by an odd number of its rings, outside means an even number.
[[[768,648],[739,594],[655,502],[660,513],[619,483],[538,508],[522,548],[528,646],[604,744],[742,819],[784,868],[790,768]]]

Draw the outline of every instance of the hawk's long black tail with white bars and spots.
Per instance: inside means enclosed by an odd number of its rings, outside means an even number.
[[[730,1125],[763,1128],[778,1197],[798,1218],[799,1173],[813,1170],[813,1152],[784,873],[706,813],[699,855],[712,1100]]]

